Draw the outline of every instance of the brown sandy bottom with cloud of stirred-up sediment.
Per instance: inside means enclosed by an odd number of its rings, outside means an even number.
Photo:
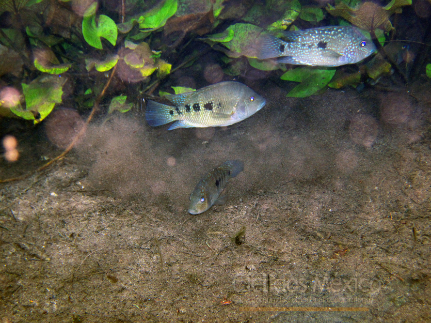
[[[0,322],[430,322],[430,93],[255,91],[227,128],[96,121],[0,185]],[[2,179],[61,152],[18,150]],[[227,202],[188,214],[228,159]]]

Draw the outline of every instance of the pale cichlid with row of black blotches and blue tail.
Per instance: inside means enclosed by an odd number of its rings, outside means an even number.
[[[174,106],[148,100],[145,118],[156,127],[175,121],[168,130],[216,127],[244,120],[265,105],[265,99],[239,82],[220,82],[194,92],[166,95]]]

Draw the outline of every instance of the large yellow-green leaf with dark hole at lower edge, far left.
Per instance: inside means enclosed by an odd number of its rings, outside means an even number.
[[[22,84],[26,109],[11,108],[18,117],[34,120],[39,123],[51,113],[56,103],[62,102],[65,77],[43,76],[33,80],[30,84]]]

